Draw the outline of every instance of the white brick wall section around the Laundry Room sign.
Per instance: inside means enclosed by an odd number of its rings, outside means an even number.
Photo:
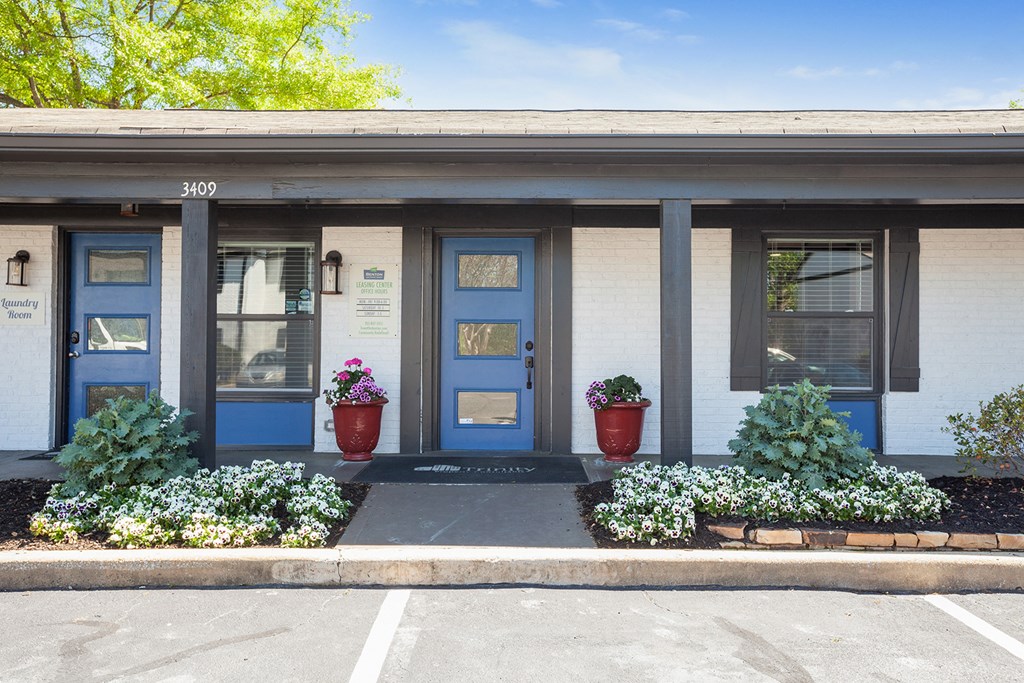
[[[26,292],[46,297],[46,325],[7,327],[0,324],[0,450],[45,451],[53,443],[53,255],[55,231],[49,226],[4,226],[0,229],[0,296]],[[29,287],[8,287],[7,258],[19,249],[31,255]]]

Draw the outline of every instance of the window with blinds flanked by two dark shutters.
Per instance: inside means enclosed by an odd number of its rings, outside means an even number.
[[[871,391],[874,241],[769,239],[767,251],[768,385]]]

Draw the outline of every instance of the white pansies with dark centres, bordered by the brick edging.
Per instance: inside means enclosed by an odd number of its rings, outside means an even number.
[[[594,508],[594,519],[618,540],[657,545],[696,529],[695,513],[775,521],[888,522],[938,519],[948,497],[918,472],[870,465],[861,477],[811,488],[784,475],[755,476],[740,466],[672,467],[639,463],[612,482],[613,500]]]

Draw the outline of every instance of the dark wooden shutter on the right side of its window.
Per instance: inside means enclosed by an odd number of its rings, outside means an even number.
[[[889,390],[920,391],[921,242],[915,228],[889,231]]]

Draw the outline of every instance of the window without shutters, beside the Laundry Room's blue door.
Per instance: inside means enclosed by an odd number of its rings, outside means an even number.
[[[217,248],[217,389],[313,391],[312,242]]]

